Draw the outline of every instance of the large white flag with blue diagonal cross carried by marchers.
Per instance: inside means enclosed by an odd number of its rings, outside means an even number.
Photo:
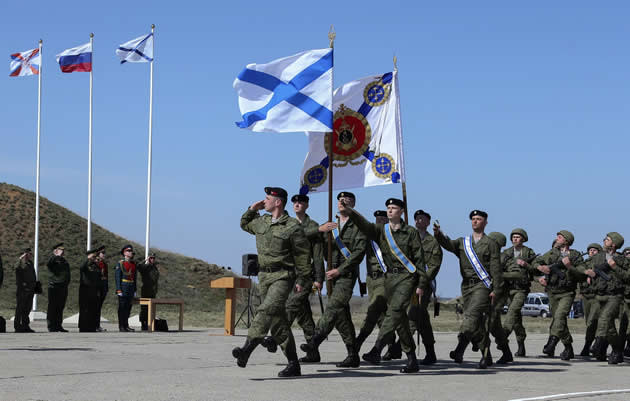
[[[309,50],[249,64],[234,80],[242,121],[256,132],[332,129],[333,50]]]

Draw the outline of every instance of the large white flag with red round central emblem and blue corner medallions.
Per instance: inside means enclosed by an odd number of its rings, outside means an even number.
[[[362,78],[333,96],[333,188],[396,184],[405,180],[398,73]],[[300,193],[328,191],[329,133],[308,132]]]

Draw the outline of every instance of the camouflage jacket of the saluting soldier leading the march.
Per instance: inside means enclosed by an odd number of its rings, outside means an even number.
[[[260,216],[249,208],[241,216],[241,228],[256,236],[258,264],[261,269],[281,267],[282,270],[265,273],[261,279],[286,279],[297,274],[297,283],[301,286],[311,281],[311,244],[304,234],[302,226],[287,212],[275,222],[271,215]]]

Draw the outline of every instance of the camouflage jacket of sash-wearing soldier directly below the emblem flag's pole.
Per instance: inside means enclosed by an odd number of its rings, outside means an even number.
[[[376,242],[381,248],[383,261],[387,266],[387,271],[390,272],[393,269],[406,271],[407,268],[405,265],[398,260],[389,246],[389,242],[385,237],[385,225],[370,223],[356,210],[350,210],[350,218],[356,222],[356,225],[363,233],[365,233],[368,240]],[[427,273],[424,271],[426,261],[418,230],[402,221],[400,229],[392,231],[392,236],[394,237],[394,241],[396,242],[396,245],[398,245],[400,251],[405,254],[405,256],[416,266],[416,273],[414,274],[417,274],[420,278],[418,281],[418,288],[426,288],[429,285],[430,280],[428,279]]]

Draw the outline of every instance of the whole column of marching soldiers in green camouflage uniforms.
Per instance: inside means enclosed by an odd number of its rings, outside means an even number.
[[[407,361],[401,373],[418,372],[421,365],[436,363],[427,307],[432,293],[435,297],[442,248],[457,256],[462,276],[463,320],[457,346],[449,354],[455,363],[463,362],[469,345],[473,351],[481,352],[479,369],[513,362],[508,344],[512,332],[518,344],[515,355],[526,355],[521,308],[533,280],[545,287],[553,316],[549,338],[542,349],[546,356],[554,357],[561,342],[560,358],[569,361],[575,357],[567,315],[578,286],[586,318],[580,355],[593,356],[598,361],[607,359],[609,364],[622,363],[624,354],[630,356],[630,247],[618,251],[624,238],[617,232],[606,234],[603,246],[590,244],[583,254],[571,248],[573,234],[560,230],[551,249],[537,254],[524,245],[527,232],[515,228],[509,236],[512,246],[501,251],[507,238],[498,232],[485,234],[488,214],[481,210],[470,212],[471,234],[451,239],[437,221],[433,235],[427,231],[431,216],[423,210],[413,214],[415,227],[405,224],[405,203],[396,198],[385,202],[386,210],[375,211],[375,223],[371,223],[354,209],[355,195],[340,192],[337,222],[319,225],[306,214],[308,196],[291,198],[296,216],[292,218],[285,210],[288,196],[284,189],[266,187],[265,193],[265,199],[253,203],[240,223],[244,231],[256,237],[262,297],[245,344],[232,350],[242,368],[258,345],[269,352],[276,352],[279,346],[288,364],[278,376],[300,376],[300,363],[320,362],[319,348],[333,328],[347,349],[347,357],[336,366],[356,368],[361,363],[360,350],[376,326],[378,336],[363,354],[365,362],[379,364],[381,360],[400,359],[404,352]],[[267,213],[261,215],[261,210]],[[328,232],[332,232],[332,265],[324,268]],[[349,302],[364,255],[369,306],[357,334]],[[311,289],[321,291],[323,285],[328,290],[327,307],[315,323],[309,295]],[[507,315],[502,319],[506,304]],[[290,329],[295,321],[303,329],[306,341],[300,345],[305,352],[301,358]],[[420,361],[415,356],[416,331],[426,351]],[[501,351],[496,362],[490,352],[490,334]]]

